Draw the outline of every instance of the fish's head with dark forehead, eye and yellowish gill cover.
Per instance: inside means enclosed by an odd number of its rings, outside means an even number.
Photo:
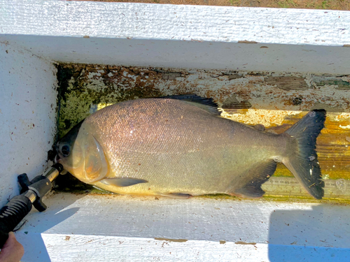
[[[97,182],[109,173],[104,149],[83,121],[59,140],[56,151],[57,162],[82,182]]]

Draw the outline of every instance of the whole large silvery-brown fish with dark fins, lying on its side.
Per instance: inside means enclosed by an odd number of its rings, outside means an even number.
[[[118,194],[260,198],[283,163],[314,198],[324,195],[316,138],[325,110],[281,134],[221,117],[195,94],[123,101],[94,112],[57,143],[78,180]]]

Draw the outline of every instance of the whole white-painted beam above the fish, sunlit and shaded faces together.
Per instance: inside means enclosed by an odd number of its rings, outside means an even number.
[[[0,7],[0,42],[55,61],[335,74],[350,70],[349,48],[343,47],[350,44],[347,11],[23,0],[10,5],[1,0]]]

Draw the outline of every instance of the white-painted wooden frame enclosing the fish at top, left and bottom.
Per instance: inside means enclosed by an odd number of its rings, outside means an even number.
[[[7,171],[1,175],[1,203],[17,193],[18,173],[32,177],[45,166],[56,92],[55,68],[44,59],[349,73],[349,48],[342,47],[350,43],[348,14],[83,1],[9,5],[0,0],[0,77],[5,83],[0,121],[11,123],[10,129],[1,129],[0,146],[6,144],[1,169]],[[29,116],[33,108],[38,110],[34,118]],[[13,143],[10,135],[20,119],[25,122]],[[28,121],[41,128],[27,131]],[[31,212],[17,233],[26,250],[23,261],[349,260],[349,206],[73,194],[57,194],[47,204],[46,212]],[[179,239],[187,241],[171,241]]]

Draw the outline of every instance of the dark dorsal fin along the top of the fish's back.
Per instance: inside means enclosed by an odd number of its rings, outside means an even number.
[[[197,94],[179,94],[175,96],[160,96],[157,99],[177,99],[182,100],[190,105],[195,105],[198,108],[202,108],[211,112],[213,115],[221,115],[218,110],[218,104],[214,102],[213,99],[207,99],[206,97],[197,96]]]

